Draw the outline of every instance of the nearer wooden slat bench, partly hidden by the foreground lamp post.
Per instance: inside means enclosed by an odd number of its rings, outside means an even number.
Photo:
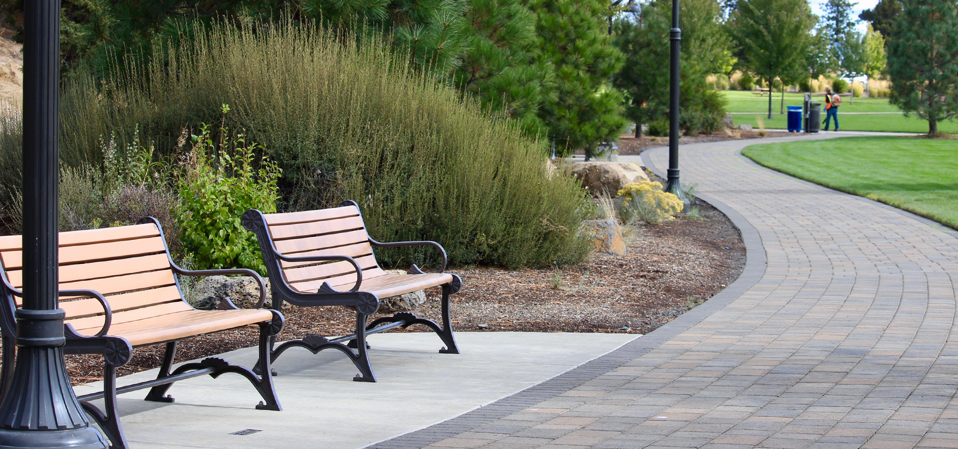
[[[0,280],[3,298],[0,331],[3,370],[0,386],[6,396],[12,381],[16,322],[23,285],[22,237],[0,236]],[[173,382],[209,374],[236,372],[246,377],[262,395],[256,408],[282,410],[271,376],[259,376],[219,358],[207,358],[172,370],[176,342],[185,338],[239,326],[260,327],[260,357],[268,368],[269,339],[284,325],[283,315],[264,309],[265,291],[253,309],[239,309],[225,299],[219,310],[197,310],[183,300],[176,275],[211,276],[242,274],[263,285],[262,278],[245,269],[184,270],[173,263],[163,231],[154,218],[141,224],[59,234],[59,308],[66,318],[64,332],[68,354],[103,355],[103,392],[80,396],[80,404],[110,438],[114,448],[126,448],[117,415],[117,394],[150,389],[146,399],[172,402],[163,394]],[[116,386],[116,369],[125,365],[133,348],[166,344],[163,366],[155,380]],[[268,372],[268,370],[266,371]],[[101,411],[90,401],[104,399]]]

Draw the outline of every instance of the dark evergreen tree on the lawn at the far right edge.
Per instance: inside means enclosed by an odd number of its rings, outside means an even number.
[[[891,102],[904,113],[938,123],[958,117],[958,4],[954,0],[903,0],[888,41]]]

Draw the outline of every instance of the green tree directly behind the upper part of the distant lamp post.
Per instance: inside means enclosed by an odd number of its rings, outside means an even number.
[[[710,74],[729,70],[731,40],[721,23],[717,0],[684,0],[679,4],[682,29],[680,126],[686,133],[712,132],[725,114],[722,96],[708,86]],[[669,111],[669,30],[672,4],[655,0],[638,20],[616,22],[614,42],[626,63],[615,76],[616,87],[627,94],[627,118],[636,123],[664,120]]]

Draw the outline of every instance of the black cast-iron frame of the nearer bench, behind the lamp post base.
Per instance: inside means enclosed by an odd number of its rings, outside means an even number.
[[[245,276],[253,277],[260,284],[260,289],[261,289],[260,302],[255,304],[254,309],[262,308],[262,305],[263,303],[265,303],[265,300],[266,300],[266,295],[265,295],[266,291],[264,288],[264,282],[262,281],[262,278],[260,277],[259,274],[257,274],[256,272],[252,270],[247,270],[242,268],[224,269],[224,270],[183,269],[179,267],[178,265],[176,265],[176,263],[171,258],[170,248],[167,246],[166,237],[163,235],[163,228],[160,226],[159,221],[153,217],[145,217],[141,219],[139,222],[139,225],[148,225],[148,224],[153,224],[156,226],[156,233],[158,234],[159,238],[162,239],[163,241],[162,253],[158,251],[157,249],[153,251],[152,253],[150,253],[149,256],[158,257],[160,254],[166,255],[166,258],[169,261],[168,269],[171,270],[173,273],[171,275],[172,280],[174,282],[173,285],[175,286],[176,291],[179,293],[179,301],[189,305],[190,309],[193,309],[196,312],[200,312],[198,315],[202,315],[202,312],[211,312],[210,315],[219,312],[220,315],[217,315],[217,316],[222,317],[224,315],[223,315],[223,312],[220,312],[220,311],[228,311],[228,310],[250,310],[251,311],[251,309],[240,309],[238,306],[232,303],[228,298],[221,299],[218,306],[218,310],[216,311],[197,310],[192,305],[187,303],[185,299],[183,299],[182,290],[179,284],[179,279],[176,276],[176,275],[186,275],[186,276],[245,275]],[[125,226],[121,228],[132,228],[132,227]],[[108,228],[108,229],[121,230],[121,228]],[[92,231],[96,232],[96,231],[103,231],[103,230],[92,230]],[[123,230],[121,230],[121,232],[122,231]],[[79,236],[79,234],[77,233],[83,233],[83,231],[73,232],[73,233],[60,233],[60,236],[62,237],[64,236],[64,234],[74,234],[75,236]],[[19,237],[19,236],[15,236],[15,237]],[[155,238],[155,236],[142,237],[142,238]],[[136,238],[133,238],[133,239],[130,239],[129,241],[133,241],[135,239]],[[102,243],[116,243],[117,241],[118,240],[105,239],[105,240],[87,241],[80,244],[97,245]],[[119,242],[125,243],[124,240],[119,240]],[[61,238],[61,242],[60,242],[61,253],[63,248],[66,246],[67,245],[63,244],[62,238]],[[0,250],[0,257],[6,256],[7,254],[13,251],[16,251],[16,249]],[[140,256],[133,256],[128,258],[142,258],[142,257],[143,256],[140,255]],[[104,259],[100,257],[95,259],[85,259],[85,261],[75,260],[74,261],[75,263],[72,266],[77,267],[78,265],[82,265],[89,262],[120,261],[122,263],[125,260],[125,258],[127,257],[124,257],[123,255],[117,255],[117,258],[113,258],[113,259],[110,259],[110,258]],[[16,344],[16,321],[14,318],[14,313],[18,308],[18,304],[16,303],[16,300],[14,299],[14,297],[22,298],[23,296],[23,292],[19,288],[16,288],[13,285],[13,283],[11,283],[10,281],[9,273],[8,273],[9,270],[7,268],[6,260],[7,259],[4,258],[3,263],[0,263],[0,281],[2,281],[0,283],[2,283],[2,290],[3,290],[2,293],[0,293],[0,295],[2,295],[2,298],[0,298],[0,301],[3,302],[2,305],[0,305],[0,336],[2,336],[2,341],[3,341],[3,354],[2,354],[3,368],[2,368],[2,371],[0,371],[0,397],[5,397],[7,394],[11,393],[9,392],[9,390],[13,380],[12,371],[13,371],[13,360],[14,360],[14,354],[15,354],[14,348]],[[60,259],[61,271],[63,270],[64,266],[66,266],[66,263],[64,263],[61,258]],[[154,272],[161,273],[165,271],[166,269],[167,268],[160,268],[155,270]],[[128,268],[128,271],[125,271],[124,273],[120,275],[113,275],[113,277],[101,278],[95,281],[103,281],[103,280],[109,281],[109,280],[117,279],[117,277],[124,277],[130,274],[133,274],[133,276],[136,276],[137,273],[138,273],[137,268],[135,266],[130,266]],[[65,282],[61,281],[61,284],[62,283],[65,283]],[[165,288],[169,289],[171,286],[172,285],[166,285]],[[148,290],[149,288],[155,288],[155,287],[157,287],[157,285],[154,285],[153,287],[147,286],[144,290]],[[133,293],[137,293],[137,291],[134,291]],[[80,405],[87,412],[87,414],[90,415],[95,421],[97,421],[101,429],[103,429],[103,431],[107,434],[107,438],[110,439],[111,448],[126,449],[128,447],[126,444],[126,439],[123,433],[123,429],[120,425],[119,416],[117,414],[117,394],[119,393],[129,393],[129,392],[135,392],[138,390],[150,389],[149,393],[147,394],[145,398],[146,400],[157,401],[157,402],[173,402],[174,399],[170,395],[164,395],[164,393],[166,393],[167,390],[170,389],[170,387],[172,386],[174,382],[190,379],[193,377],[198,377],[198,376],[202,376],[206,374],[209,374],[210,376],[216,378],[220,374],[223,374],[226,372],[235,372],[242,375],[247,380],[249,380],[250,383],[253,384],[253,387],[256,388],[257,392],[260,393],[260,395],[262,396],[263,401],[261,401],[260,404],[256,406],[257,409],[274,410],[274,411],[283,410],[283,407],[280,405],[280,402],[277,398],[276,389],[273,385],[273,379],[271,376],[258,375],[257,373],[254,372],[254,370],[250,370],[237,365],[231,365],[221,358],[208,357],[200,362],[187,363],[187,364],[181,365],[177,367],[175,370],[172,370],[171,372],[171,368],[175,358],[176,342],[187,339],[187,338],[192,338],[198,335],[202,335],[204,333],[212,333],[212,332],[218,332],[221,330],[227,330],[227,328],[219,328],[216,330],[208,330],[205,332],[196,332],[194,335],[189,335],[186,337],[179,337],[179,338],[170,339],[170,340],[143,343],[140,345],[133,346],[123,336],[110,335],[110,327],[113,325],[113,315],[114,315],[112,310],[113,307],[111,307],[110,305],[110,298],[112,298],[111,296],[104,296],[103,294],[101,294],[100,292],[96,290],[77,289],[77,288],[60,290],[59,296],[61,298],[70,297],[71,299],[74,299],[74,300],[80,300],[81,298],[95,299],[100,303],[100,306],[102,307],[102,310],[96,314],[89,314],[88,311],[85,314],[81,314],[79,316],[70,316],[70,314],[67,314],[66,323],[64,323],[64,334],[66,337],[66,344],[63,347],[63,353],[65,354],[102,354],[103,355],[103,392],[83,394],[78,396],[78,399],[80,399]],[[174,304],[177,302],[173,300],[173,301],[168,301],[167,303]],[[61,306],[64,304],[68,304],[68,303],[65,303],[62,301],[60,302]],[[117,304],[114,304],[114,306],[116,305]],[[127,307],[128,310],[121,310],[121,313],[125,311],[144,310],[151,305],[156,305],[156,303],[147,304],[146,306],[139,309]],[[67,307],[69,308],[69,306]],[[184,308],[184,307],[180,306],[180,308]],[[260,327],[259,356],[260,356],[261,363],[264,363],[265,366],[267,367],[266,372],[268,372],[269,371],[268,367],[270,362],[270,359],[268,356],[270,342],[271,342],[271,339],[275,338],[275,336],[279,334],[280,331],[283,330],[285,319],[283,317],[283,314],[280,313],[278,310],[272,310],[268,308],[263,310],[268,311],[270,313],[269,320],[252,322],[252,323],[243,323],[239,326],[258,325]],[[190,310],[183,310],[183,311],[190,313]],[[229,313],[232,313],[232,312],[229,312]],[[239,314],[235,314],[235,315],[239,317],[240,320],[242,319],[241,315]],[[258,315],[262,315],[262,314],[258,314]],[[78,319],[82,320],[82,319],[90,318],[91,316],[103,317],[102,318],[103,327],[100,328],[100,330],[96,332],[95,335],[81,334],[70,323],[71,320],[78,320]],[[147,317],[147,319],[148,318],[149,317]],[[239,321],[239,320],[236,320],[236,321]],[[199,322],[199,323],[202,323],[202,322]],[[232,326],[228,328],[236,328],[236,326]],[[120,333],[120,335],[123,335],[123,333]],[[148,347],[153,345],[162,345],[162,344],[166,345],[166,351],[164,353],[162,367],[160,368],[159,374],[157,375],[156,379],[148,380],[146,382],[136,383],[133,385],[117,387],[116,370],[118,367],[122,367],[127,362],[129,362],[134,348],[143,348],[143,347]],[[99,408],[97,408],[95,405],[93,405],[90,402],[96,399],[104,399],[105,412],[100,410]]]

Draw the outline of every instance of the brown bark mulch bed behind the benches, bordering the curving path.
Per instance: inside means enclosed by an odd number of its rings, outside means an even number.
[[[735,281],[745,263],[741,236],[732,223],[705,203],[696,207],[696,217],[632,229],[626,256],[595,254],[581,265],[561,268],[452,269],[464,283],[453,296],[454,328],[648,333],[669,323]],[[438,321],[439,291],[434,290],[427,292],[430,301],[419,314]],[[283,312],[283,340],[308,334],[346,335],[353,330],[354,312],[343,307],[287,305]],[[176,360],[252,347],[257,334],[255,326],[250,326],[186,340],[180,342]],[[376,345],[375,338],[372,344]],[[436,347],[441,345],[437,337]],[[120,368],[121,375],[159,367],[163,346],[133,352],[132,360]],[[101,356],[68,355],[66,360],[75,384],[102,378]]]

